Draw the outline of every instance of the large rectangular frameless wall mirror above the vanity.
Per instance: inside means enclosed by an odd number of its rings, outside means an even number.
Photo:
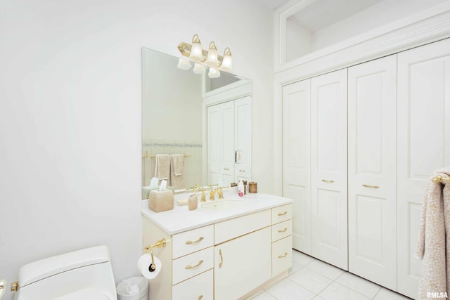
[[[210,79],[178,63],[175,56],[142,48],[143,199],[157,155],[183,155],[181,177],[169,181],[176,193],[251,179],[251,80],[226,72]]]

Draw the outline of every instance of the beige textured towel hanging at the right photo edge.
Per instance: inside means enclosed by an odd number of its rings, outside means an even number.
[[[439,169],[434,176],[450,177],[450,168]],[[418,299],[428,299],[430,292],[450,295],[450,183],[428,181],[416,256],[423,259]]]

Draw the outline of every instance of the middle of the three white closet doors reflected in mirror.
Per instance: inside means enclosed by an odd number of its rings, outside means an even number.
[[[234,105],[233,101],[220,105],[220,173],[224,185],[234,178]],[[219,178],[220,179],[220,178]],[[210,184],[219,181],[210,182]]]

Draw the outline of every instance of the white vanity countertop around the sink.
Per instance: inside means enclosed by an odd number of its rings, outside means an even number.
[[[192,195],[192,193],[175,195],[174,209],[161,212],[150,210],[148,208],[148,200],[143,200],[141,214],[144,218],[149,219],[162,230],[165,230],[169,235],[174,235],[186,230],[207,226],[220,221],[233,219],[238,216],[244,216],[256,211],[271,209],[272,207],[279,207],[293,202],[293,200],[285,197],[263,193],[247,193],[244,197],[238,197],[236,188],[229,188],[224,190],[224,200],[243,200],[246,205],[234,209],[206,209],[202,208],[201,205],[211,203],[212,201],[206,200],[207,202],[200,202],[201,193],[198,193],[198,207],[197,209],[190,211],[188,205],[179,206],[176,204],[178,200],[187,200],[189,195]],[[205,192],[205,195],[208,199],[209,192]],[[216,200],[214,201],[220,202],[224,200],[218,200],[216,195]]]

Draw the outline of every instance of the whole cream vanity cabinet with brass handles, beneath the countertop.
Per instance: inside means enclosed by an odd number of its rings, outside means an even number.
[[[292,266],[292,207],[285,203],[172,235],[144,217],[144,247],[166,240],[153,249],[162,269],[149,281],[151,299],[244,299],[285,278]]]

